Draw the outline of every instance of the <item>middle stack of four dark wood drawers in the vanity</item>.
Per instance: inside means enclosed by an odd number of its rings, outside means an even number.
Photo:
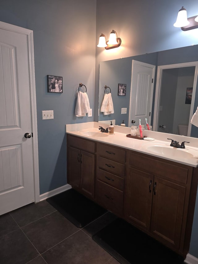
[[[124,149],[97,144],[96,201],[118,216],[123,216],[125,162]]]

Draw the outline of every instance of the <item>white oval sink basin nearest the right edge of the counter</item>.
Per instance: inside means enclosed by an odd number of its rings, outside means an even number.
[[[198,157],[198,151],[195,149],[190,149],[186,146],[185,149],[179,149],[171,147],[168,144],[144,144],[143,148],[146,148],[149,152],[159,154],[160,156],[166,156],[170,158],[195,158]]]

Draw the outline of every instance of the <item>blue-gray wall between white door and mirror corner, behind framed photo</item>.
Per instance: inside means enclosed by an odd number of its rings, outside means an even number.
[[[0,20],[33,30],[42,194],[67,184],[65,124],[93,121],[74,110],[82,82],[94,113],[96,1],[1,0]],[[47,92],[47,75],[62,76],[63,93]],[[42,110],[54,119],[42,120]]]

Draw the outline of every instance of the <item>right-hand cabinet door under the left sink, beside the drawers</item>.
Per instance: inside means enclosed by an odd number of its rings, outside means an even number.
[[[80,188],[88,197],[94,197],[95,155],[81,150]]]

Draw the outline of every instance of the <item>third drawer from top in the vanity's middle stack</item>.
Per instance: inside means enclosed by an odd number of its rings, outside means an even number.
[[[109,184],[121,191],[124,189],[124,179],[107,171],[97,168],[97,179]]]

